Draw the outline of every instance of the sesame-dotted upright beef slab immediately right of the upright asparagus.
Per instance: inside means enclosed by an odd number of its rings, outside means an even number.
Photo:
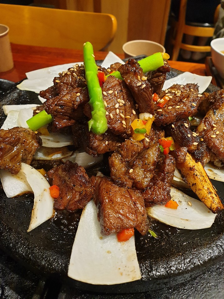
[[[115,76],[109,76],[102,86],[108,130],[123,137],[130,135],[130,125],[136,118],[133,97],[125,85]]]

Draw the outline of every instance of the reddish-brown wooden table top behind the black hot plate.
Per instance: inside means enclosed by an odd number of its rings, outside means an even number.
[[[38,46],[12,44],[14,68],[0,73],[0,78],[18,82],[26,78],[26,73],[35,69],[42,69],[58,64],[83,61],[81,50],[46,48]],[[95,52],[95,59],[104,59],[107,52]],[[124,54],[118,54],[124,59]],[[205,65],[182,61],[169,61],[172,68],[180,71],[189,71],[198,75],[205,75]]]

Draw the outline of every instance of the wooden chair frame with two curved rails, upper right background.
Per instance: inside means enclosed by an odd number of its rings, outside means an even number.
[[[218,10],[220,5],[217,7],[214,23],[218,17]],[[173,41],[173,53],[172,60],[177,60],[180,49],[192,51],[192,52],[210,52],[211,47],[208,45],[199,46],[199,45],[188,45],[182,42],[184,34],[192,35],[192,36],[202,36],[202,37],[212,37],[214,33],[214,27],[202,27],[202,26],[190,26],[185,23],[186,16],[186,8],[187,8],[187,0],[180,1],[180,12],[178,21],[175,23],[175,39]]]

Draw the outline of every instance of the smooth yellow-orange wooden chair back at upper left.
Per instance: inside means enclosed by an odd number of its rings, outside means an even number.
[[[111,14],[0,4],[0,23],[9,26],[10,42],[82,49],[90,41],[95,51],[107,50],[117,30]]]

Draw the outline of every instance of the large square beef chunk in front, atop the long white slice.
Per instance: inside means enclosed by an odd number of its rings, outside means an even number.
[[[133,227],[142,235],[146,234],[147,214],[138,190],[119,187],[106,177],[96,178],[94,190],[102,235]]]

